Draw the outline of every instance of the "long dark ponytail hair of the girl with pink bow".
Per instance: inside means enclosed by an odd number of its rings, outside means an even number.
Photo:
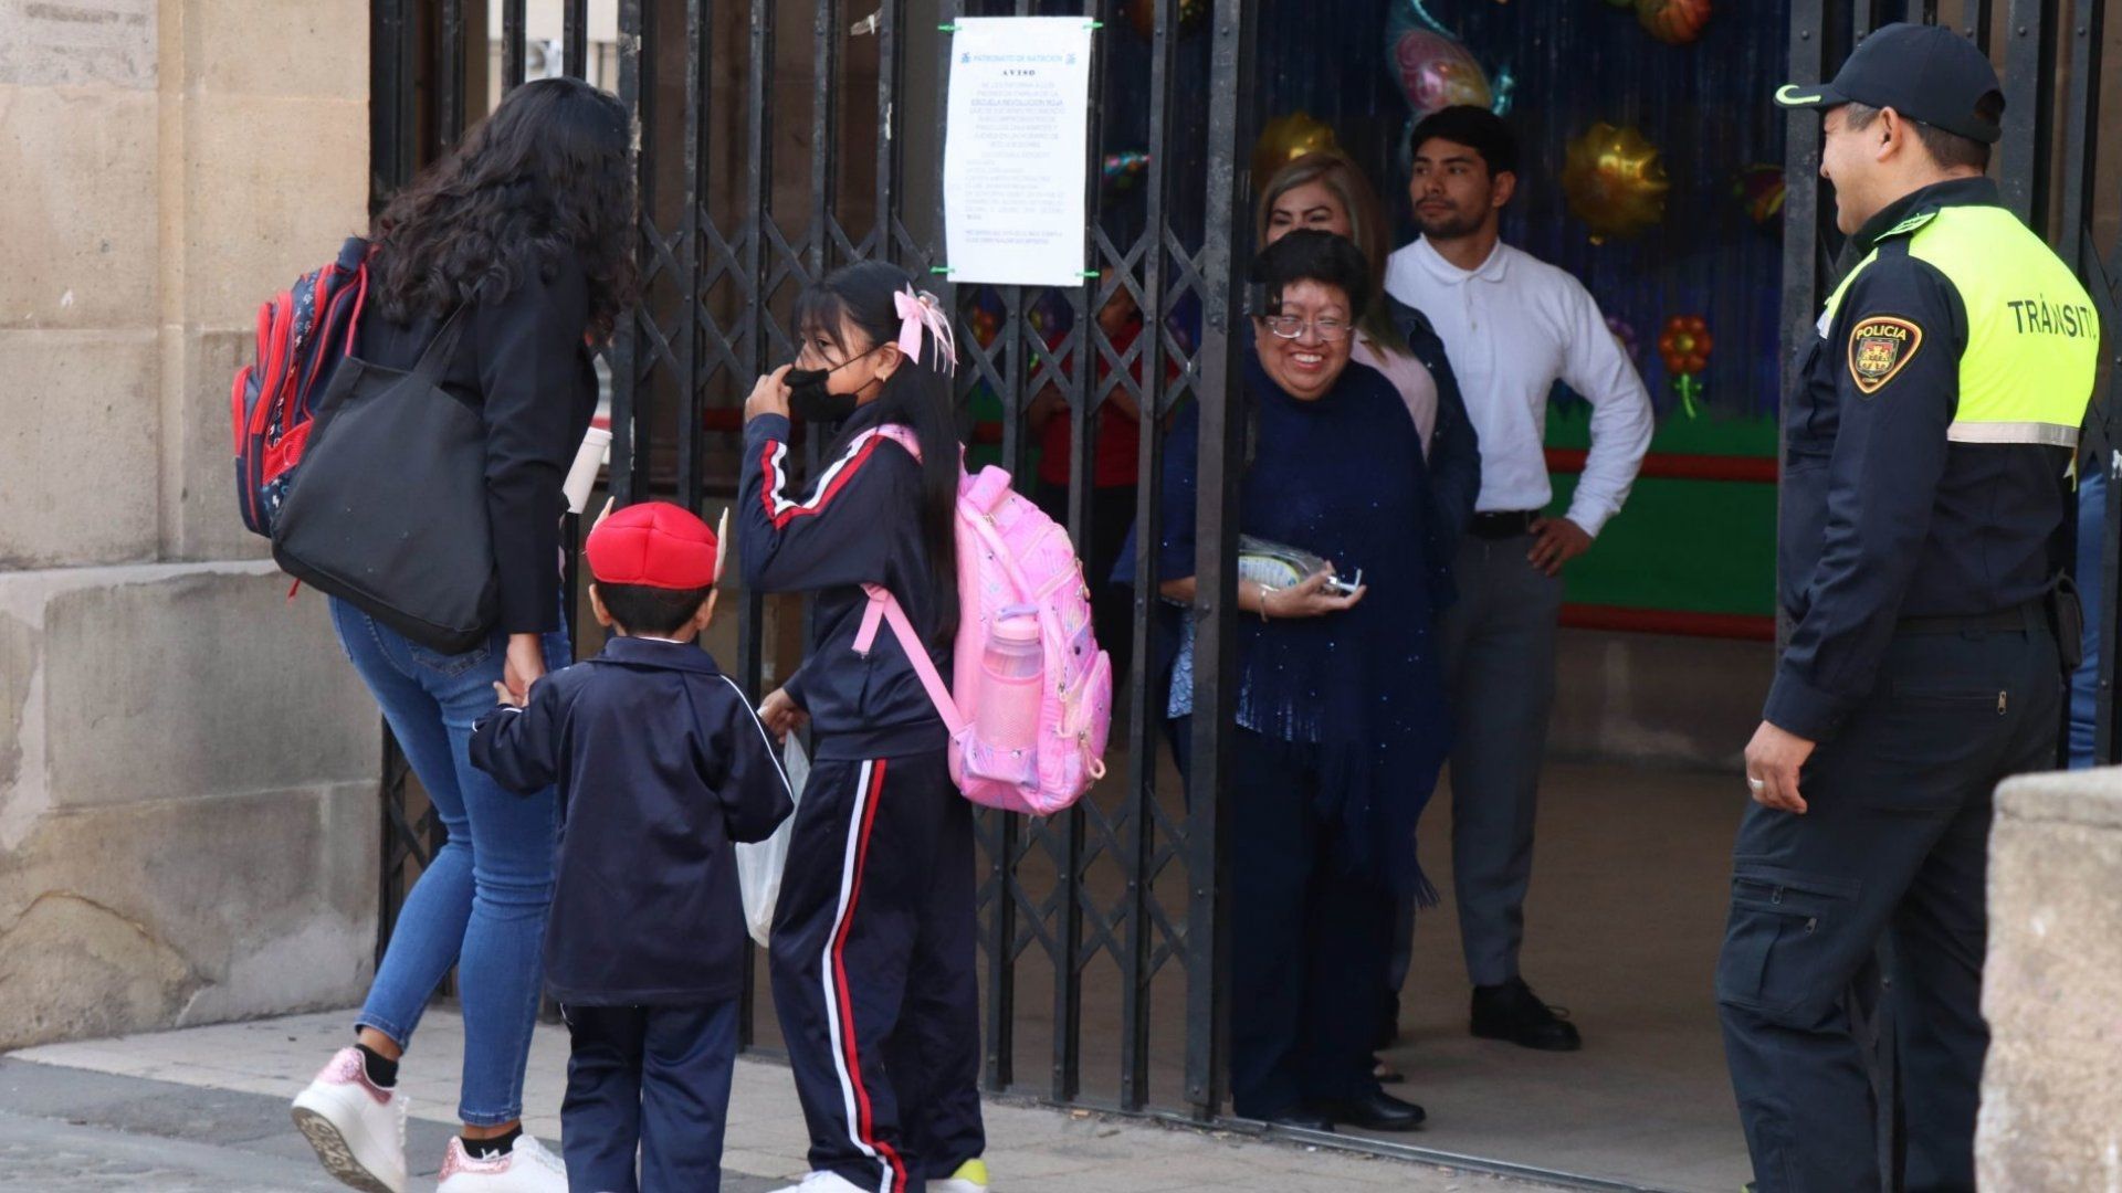
[[[870,344],[895,344],[904,323],[895,295],[919,293],[915,278],[889,261],[855,261],[840,265],[813,282],[796,299],[798,342],[823,335],[842,352],[842,327],[853,325]],[[936,637],[944,645],[957,637],[957,476],[959,439],[953,371],[957,357],[949,342],[949,323],[919,327],[919,359],[904,361],[876,395],[885,422],[902,422],[921,439],[921,546],[929,565],[929,588],[936,590]],[[840,433],[828,454],[847,446]]]

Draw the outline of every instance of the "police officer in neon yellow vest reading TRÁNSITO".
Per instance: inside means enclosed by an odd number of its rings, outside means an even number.
[[[1973,1189],[1990,792],[2056,760],[2056,537],[2099,325],[1984,178],[2003,96],[1973,45],[1886,25],[1776,102],[1825,115],[1857,265],[1785,412],[1793,630],[1746,747],[1725,1055],[1761,1193],[1878,1189],[1846,991],[1891,940],[1906,1185]]]

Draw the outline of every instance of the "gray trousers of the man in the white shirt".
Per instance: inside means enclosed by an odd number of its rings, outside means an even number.
[[[1439,624],[1451,698],[1451,889],[1473,985],[1517,976],[1532,881],[1532,815],[1555,703],[1562,580],[1526,563],[1532,535],[1460,546],[1458,603]],[[1401,904],[1388,987],[1407,981],[1415,909]]]

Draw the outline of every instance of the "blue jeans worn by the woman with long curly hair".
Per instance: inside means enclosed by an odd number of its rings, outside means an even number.
[[[522,1117],[545,972],[558,802],[552,790],[507,792],[471,764],[471,726],[494,707],[507,635],[439,654],[342,601],[331,601],[331,624],[450,830],[405,896],[356,1025],[405,1047],[435,987],[458,966],[465,1076],[456,1114],[475,1127],[511,1123]],[[567,664],[567,635],[545,635],[545,667]]]

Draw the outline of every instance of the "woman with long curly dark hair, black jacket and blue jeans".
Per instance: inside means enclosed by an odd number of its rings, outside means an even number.
[[[505,792],[471,764],[494,684],[528,692],[569,662],[560,609],[560,482],[596,412],[592,344],[632,301],[630,121],[575,79],[514,89],[376,219],[354,355],[412,369],[433,348],[441,388],[486,427],[486,509],[499,624],[437,654],[333,599],[354,671],[450,830],[414,883],[342,1049],[295,1100],[325,1168],[354,1189],[405,1187],[399,1057],[435,987],[458,970],[465,1068],[441,1189],[564,1191],[560,1161],[522,1134],[554,883],[554,794]]]

